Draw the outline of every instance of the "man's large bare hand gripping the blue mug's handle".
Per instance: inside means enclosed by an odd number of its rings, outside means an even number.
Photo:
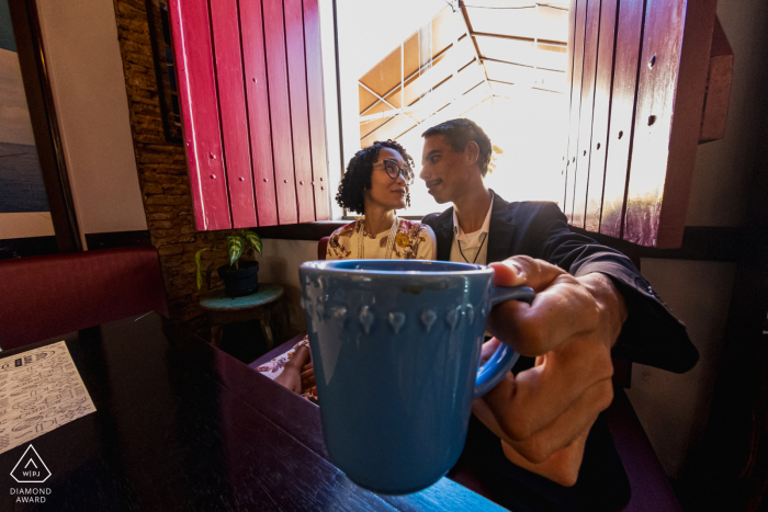
[[[598,414],[613,399],[611,346],[626,319],[621,294],[609,277],[574,277],[529,257],[492,263],[497,286],[524,284],[537,292],[531,306],[496,306],[488,328],[535,366],[511,373],[472,411],[502,441],[507,458],[563,486],[573,486],[584,445]]]

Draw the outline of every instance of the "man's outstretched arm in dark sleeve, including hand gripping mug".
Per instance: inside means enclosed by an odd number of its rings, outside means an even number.
[[[635,361],[686,371],[698,353],[685,327],[652,294],[632,262],[572,234],[552,203],[526,204],[516,216],[529,255],[492,263],[495,283],[537,291],[531,306],[508,301],[490,312],[499,342],[534,356],[511,373],[473,412],[502,441],[511,462],[564,486],[574,485],[587,434],[612,398],[611,350],[625,344]]]

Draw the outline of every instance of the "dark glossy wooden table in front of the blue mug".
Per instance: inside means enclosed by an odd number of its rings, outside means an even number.
[[[45,483],[9,475],[30,443],[0,455],[1,511],[498,511],[443,478],[379,496],[328,459],[319,409],[157,314],[66,340],[97,412],[32,441]],[[10,489],[50,489],[15,503]]]

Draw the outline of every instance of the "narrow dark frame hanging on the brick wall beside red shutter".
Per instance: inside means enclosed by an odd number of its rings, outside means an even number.
[[[160,96],[160,112],[166,140],[182,144],[181,110],[179,107],[179,90],[176,81],[176,64],[173,61],[173,42],[171,25],[168,18],[167,0],[147,0],[147,18],[149,36],[153,41],[155,73]]]

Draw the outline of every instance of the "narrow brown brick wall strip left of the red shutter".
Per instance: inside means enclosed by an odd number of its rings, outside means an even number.
[[[153,4],[159,10],[156,1]],[[194,226],[184,149],[166,140],[147,3],[114,0],[114,7],[138,182],[151,241],[160,252],[171,317],[202,333],[207,323],[197,305],[194,253],[207,247],[211,235]],[[221,285],[215,273],[214,280]]]

